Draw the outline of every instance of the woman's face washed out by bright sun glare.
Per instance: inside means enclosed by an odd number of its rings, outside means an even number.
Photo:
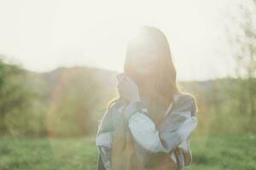
[[[157,64],[158,54],[153,45],[143,44],[133,47],[129,51],[129,57],[132,59],[132,68],[137,74],[146,76],[150,71],[154,71]]]

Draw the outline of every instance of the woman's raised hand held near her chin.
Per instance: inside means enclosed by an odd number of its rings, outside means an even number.
[[[118,80],[118,90],[120,96],[128,99],[129,102],[140,101],[139,89],[136,82],[124,74],[119,75]]]

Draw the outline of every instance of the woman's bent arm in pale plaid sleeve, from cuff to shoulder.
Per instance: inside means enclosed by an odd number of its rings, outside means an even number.
[[[140,101],[132,102],[128,107],[130,111],[125,111],[125,116],[132,136],[136,143],[148,152],[169,153],[188,139],[197,125],[197,119],[192,114],[194,100],[187,99],[177,105],[177,114],[172,114],[172,120],[179,122],[176,130],[169,129],[165,132],[157,131],[154,122],[148,117],[148,110]]]

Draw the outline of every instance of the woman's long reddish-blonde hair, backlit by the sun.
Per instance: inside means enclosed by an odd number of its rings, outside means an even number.
[[[143,40],[141,37],[147,38]],[[157,49],[158,60],[154,65],[154,71],[150,71],[152,74],[148,77],[141,77],[138,75],[132,66],[134,59],[131,59],[131,57],[134,57],[132,54],[136,54],[134,49],[137,46],[138,39],[144,41],[143,43],[148,43],[148,41],[150,41],[152,44],[151,47],[154,46],[153,48]],[[172,62],[172,53],[169,43],[165,34],[155,27],[143,26],[139,28],[137,34],[128,42],[126,48],[124,72],[137,83],[141,93],[144,89],[143,81],[145,79],[150,80],[149,83],[152,84],[152,89],[150,91],[154,95],[150,96],[150,99],[148,99],[150,101],[150,108],[148,108],[149,113],[153,111],[152,109],[154,106],[159,103],[162,103],[165,106],[170,105],[170,103],[173,101],[173,94],[182,94],[181,90],[177,86],[177,73]],[[120,96],[108,102],[108,108],[118,99],[120,99]]]

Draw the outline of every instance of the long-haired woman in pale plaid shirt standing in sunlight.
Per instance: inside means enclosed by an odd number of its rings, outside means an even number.
[[[192,162],[189,137],[197,105],[177,88],[166,36],[143,26],[128,43],[118,75],[119,98],[108,105],[98,129],[98,169],[174,170]]]

